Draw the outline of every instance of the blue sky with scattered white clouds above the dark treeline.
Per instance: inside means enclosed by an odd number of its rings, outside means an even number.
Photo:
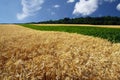
[[[0,0],[0,23],[118,16],[120,0]]]

